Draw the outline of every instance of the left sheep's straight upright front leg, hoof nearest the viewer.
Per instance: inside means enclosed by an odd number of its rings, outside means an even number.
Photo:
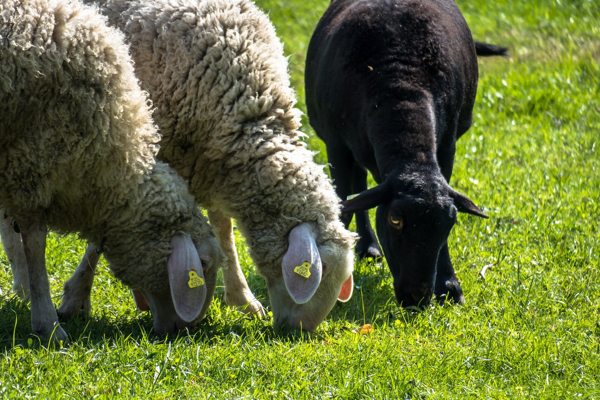
[[[41,338],[66,341],[67,332],[58,324],[50,297],[50,282],[46,270],[46,219],[40,213],[19,222],[29,272],[31,327],[35,335]]]

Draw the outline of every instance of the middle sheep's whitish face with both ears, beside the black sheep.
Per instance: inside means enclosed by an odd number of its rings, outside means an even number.
[[[313,231],[301,224],[290,232],[283,273],[266,279],[275,325],[314,331],[335,300],[352,295],[352,249],[331,240],[317,246]]]

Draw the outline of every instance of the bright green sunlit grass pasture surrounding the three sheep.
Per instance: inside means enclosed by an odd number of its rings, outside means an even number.
[[[257,3],[284,41],[304,109],[304,56],[329,1]],[[68,347],[46,348],[10,294],[0,250],[0,398],[600,398],[600,5],[458,5],[476,40],[511,54],[480,59],[475,123],[457,143],[451,185],[490,215],[461,215],[449,239],[465,305],[403,311],[385,264],[356,263],[352,299],[314,334],[245,318],[218,288],[198,332],[168,341],[103,262],[91,317],[65,324]],[[248,283],[269,307],[239,243]],[[84,247],[49,235],[57,305]],[[364,323],[374,332],[352,333]]]

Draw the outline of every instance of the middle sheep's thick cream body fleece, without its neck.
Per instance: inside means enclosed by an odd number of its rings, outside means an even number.
[[[270,143],[296,147],[300,112],[287,60],[274,27],[253,2],[100,4],[125,33],[136,74],[151,94],[163,134],[160,158],[191,182],[197,200],[208,205],[202,196],[218,174],[251,167]]]

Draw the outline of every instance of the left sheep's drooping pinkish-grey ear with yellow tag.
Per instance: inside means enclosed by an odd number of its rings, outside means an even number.
[[[176,234],[171,239],[173,252],[167,261],[173,305],[179,317],[196,320],[206,300],[206,282],[196,246],[187,234]]]

